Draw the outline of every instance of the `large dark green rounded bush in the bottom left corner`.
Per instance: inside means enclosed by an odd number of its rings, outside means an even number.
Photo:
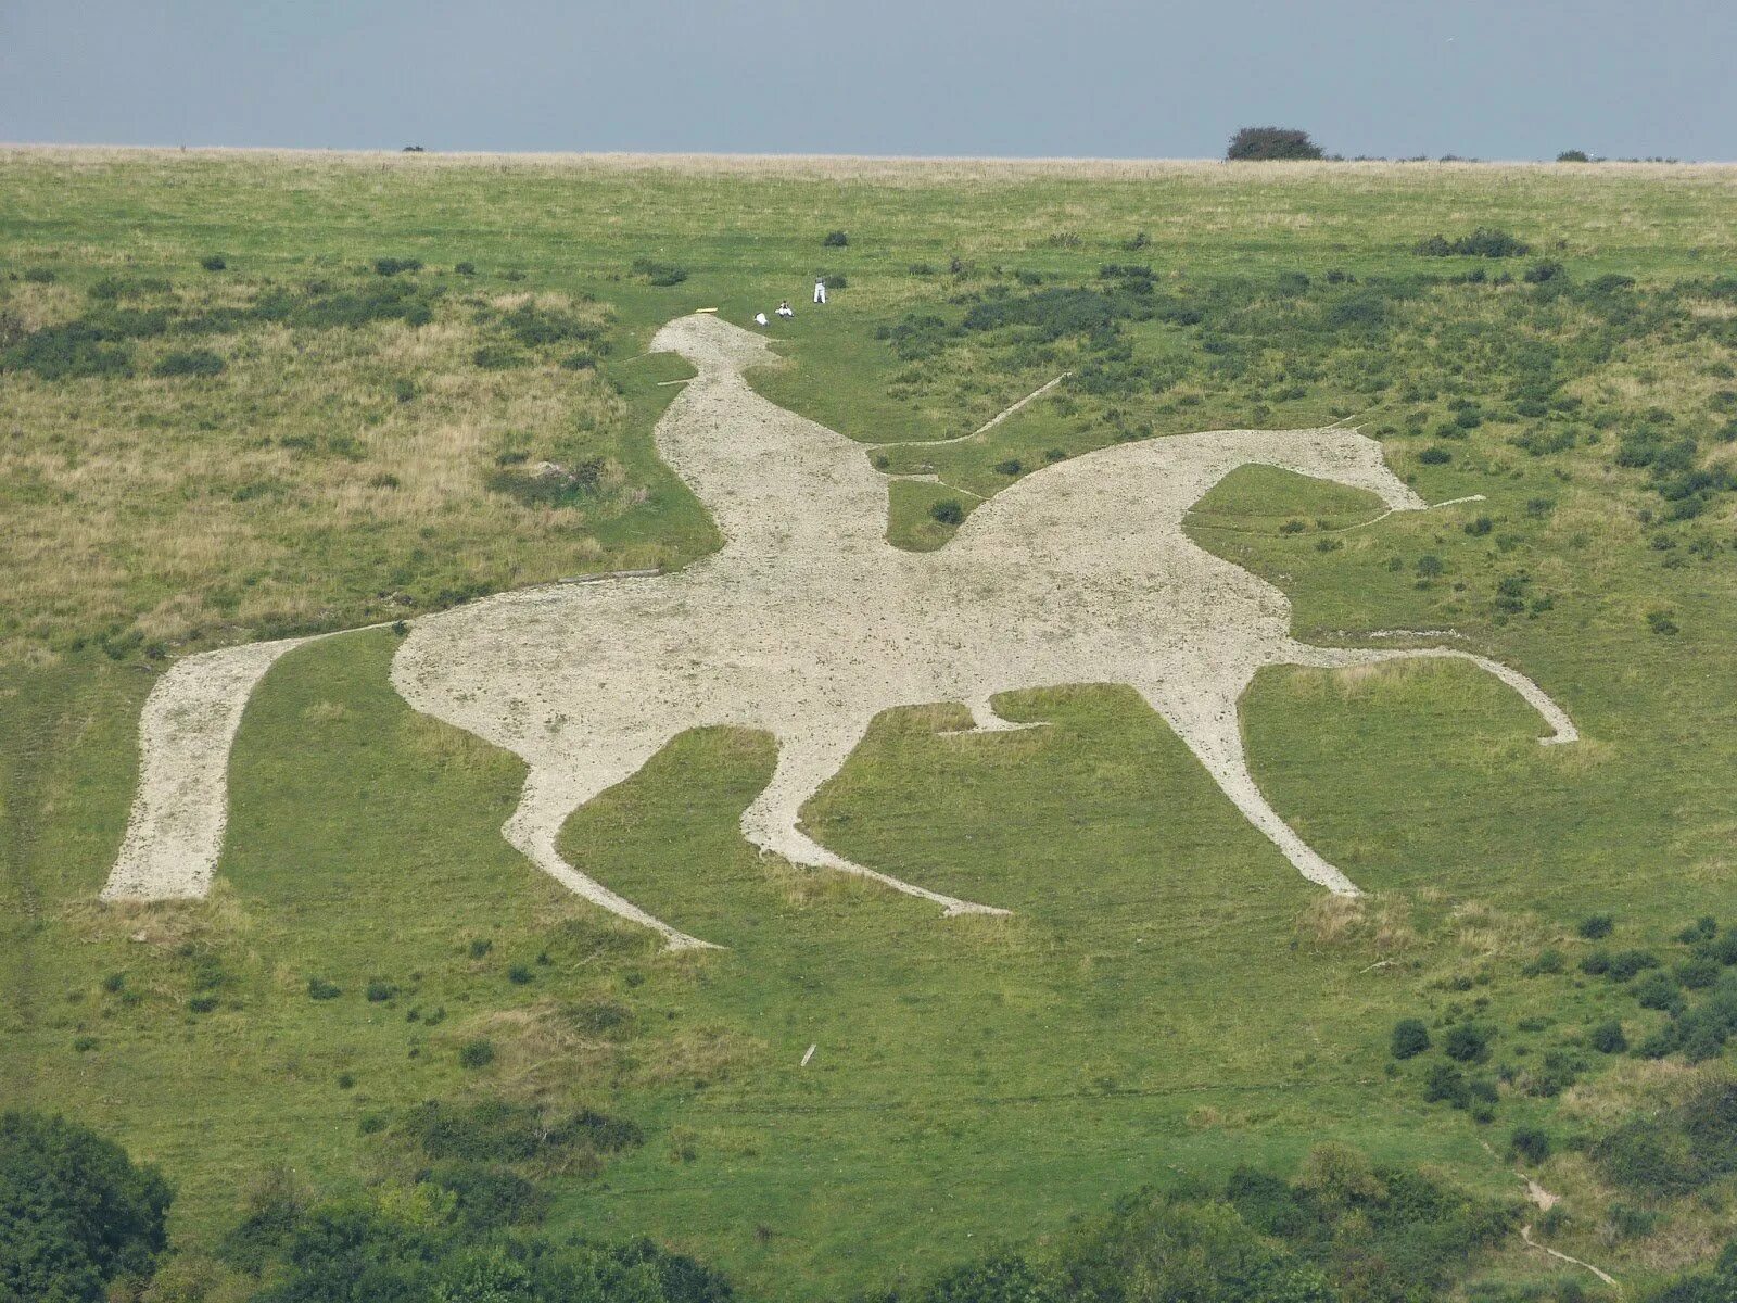
[[[0,1115],[0,1298],[101,1303],[111,1282],[142,1282],[168,1242],[168,1202],[153,1167],[94,1131]]]

